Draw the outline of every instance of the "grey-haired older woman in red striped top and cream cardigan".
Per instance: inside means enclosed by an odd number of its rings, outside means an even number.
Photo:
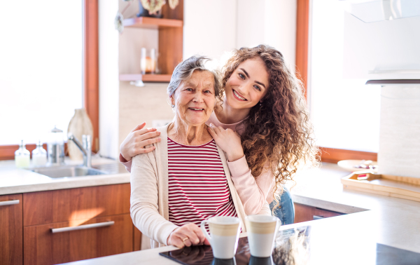
[[[230,178],[225,154],[207,130],[206,121],[221,97],[206,57],[193,56],[174,70],[168,86],[175,110],[153,151],[133,158],[131,216],[134,225],[160,245],[198,245],[205,237],[197,226],[214,216],[239,217],[244,206]]]

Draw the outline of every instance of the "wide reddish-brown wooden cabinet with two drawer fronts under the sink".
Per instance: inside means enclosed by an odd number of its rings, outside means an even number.
[[[140,250],[130,184],[23,194],[24,264],[59,264]],[[114,224],[52,233],[51,229]]]

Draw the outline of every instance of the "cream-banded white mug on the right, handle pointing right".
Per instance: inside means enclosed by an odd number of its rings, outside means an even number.
[[[274,248],[279,218],[269,215],[248,215],[245,217],[248,232],[249,251],[253,257],[269,257]]]

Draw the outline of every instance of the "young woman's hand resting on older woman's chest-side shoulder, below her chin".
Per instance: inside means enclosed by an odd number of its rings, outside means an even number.
[[[241,137],[231,129],[223,129],[221,126],[216,127],[210,123],[210,128],[207,128],[214,138],[216,144],[221,147],[228,155],[228,161],[237,161],[244,156],[244,149],[242,149]]]

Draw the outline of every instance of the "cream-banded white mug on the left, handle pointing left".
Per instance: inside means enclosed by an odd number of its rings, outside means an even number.
[[[209,233],[205,225],[209,224]],[[237,217],[216,216],[201,223],[201,229],[209,240],[216,259],[232,259],[238,247],[241,221]]]

